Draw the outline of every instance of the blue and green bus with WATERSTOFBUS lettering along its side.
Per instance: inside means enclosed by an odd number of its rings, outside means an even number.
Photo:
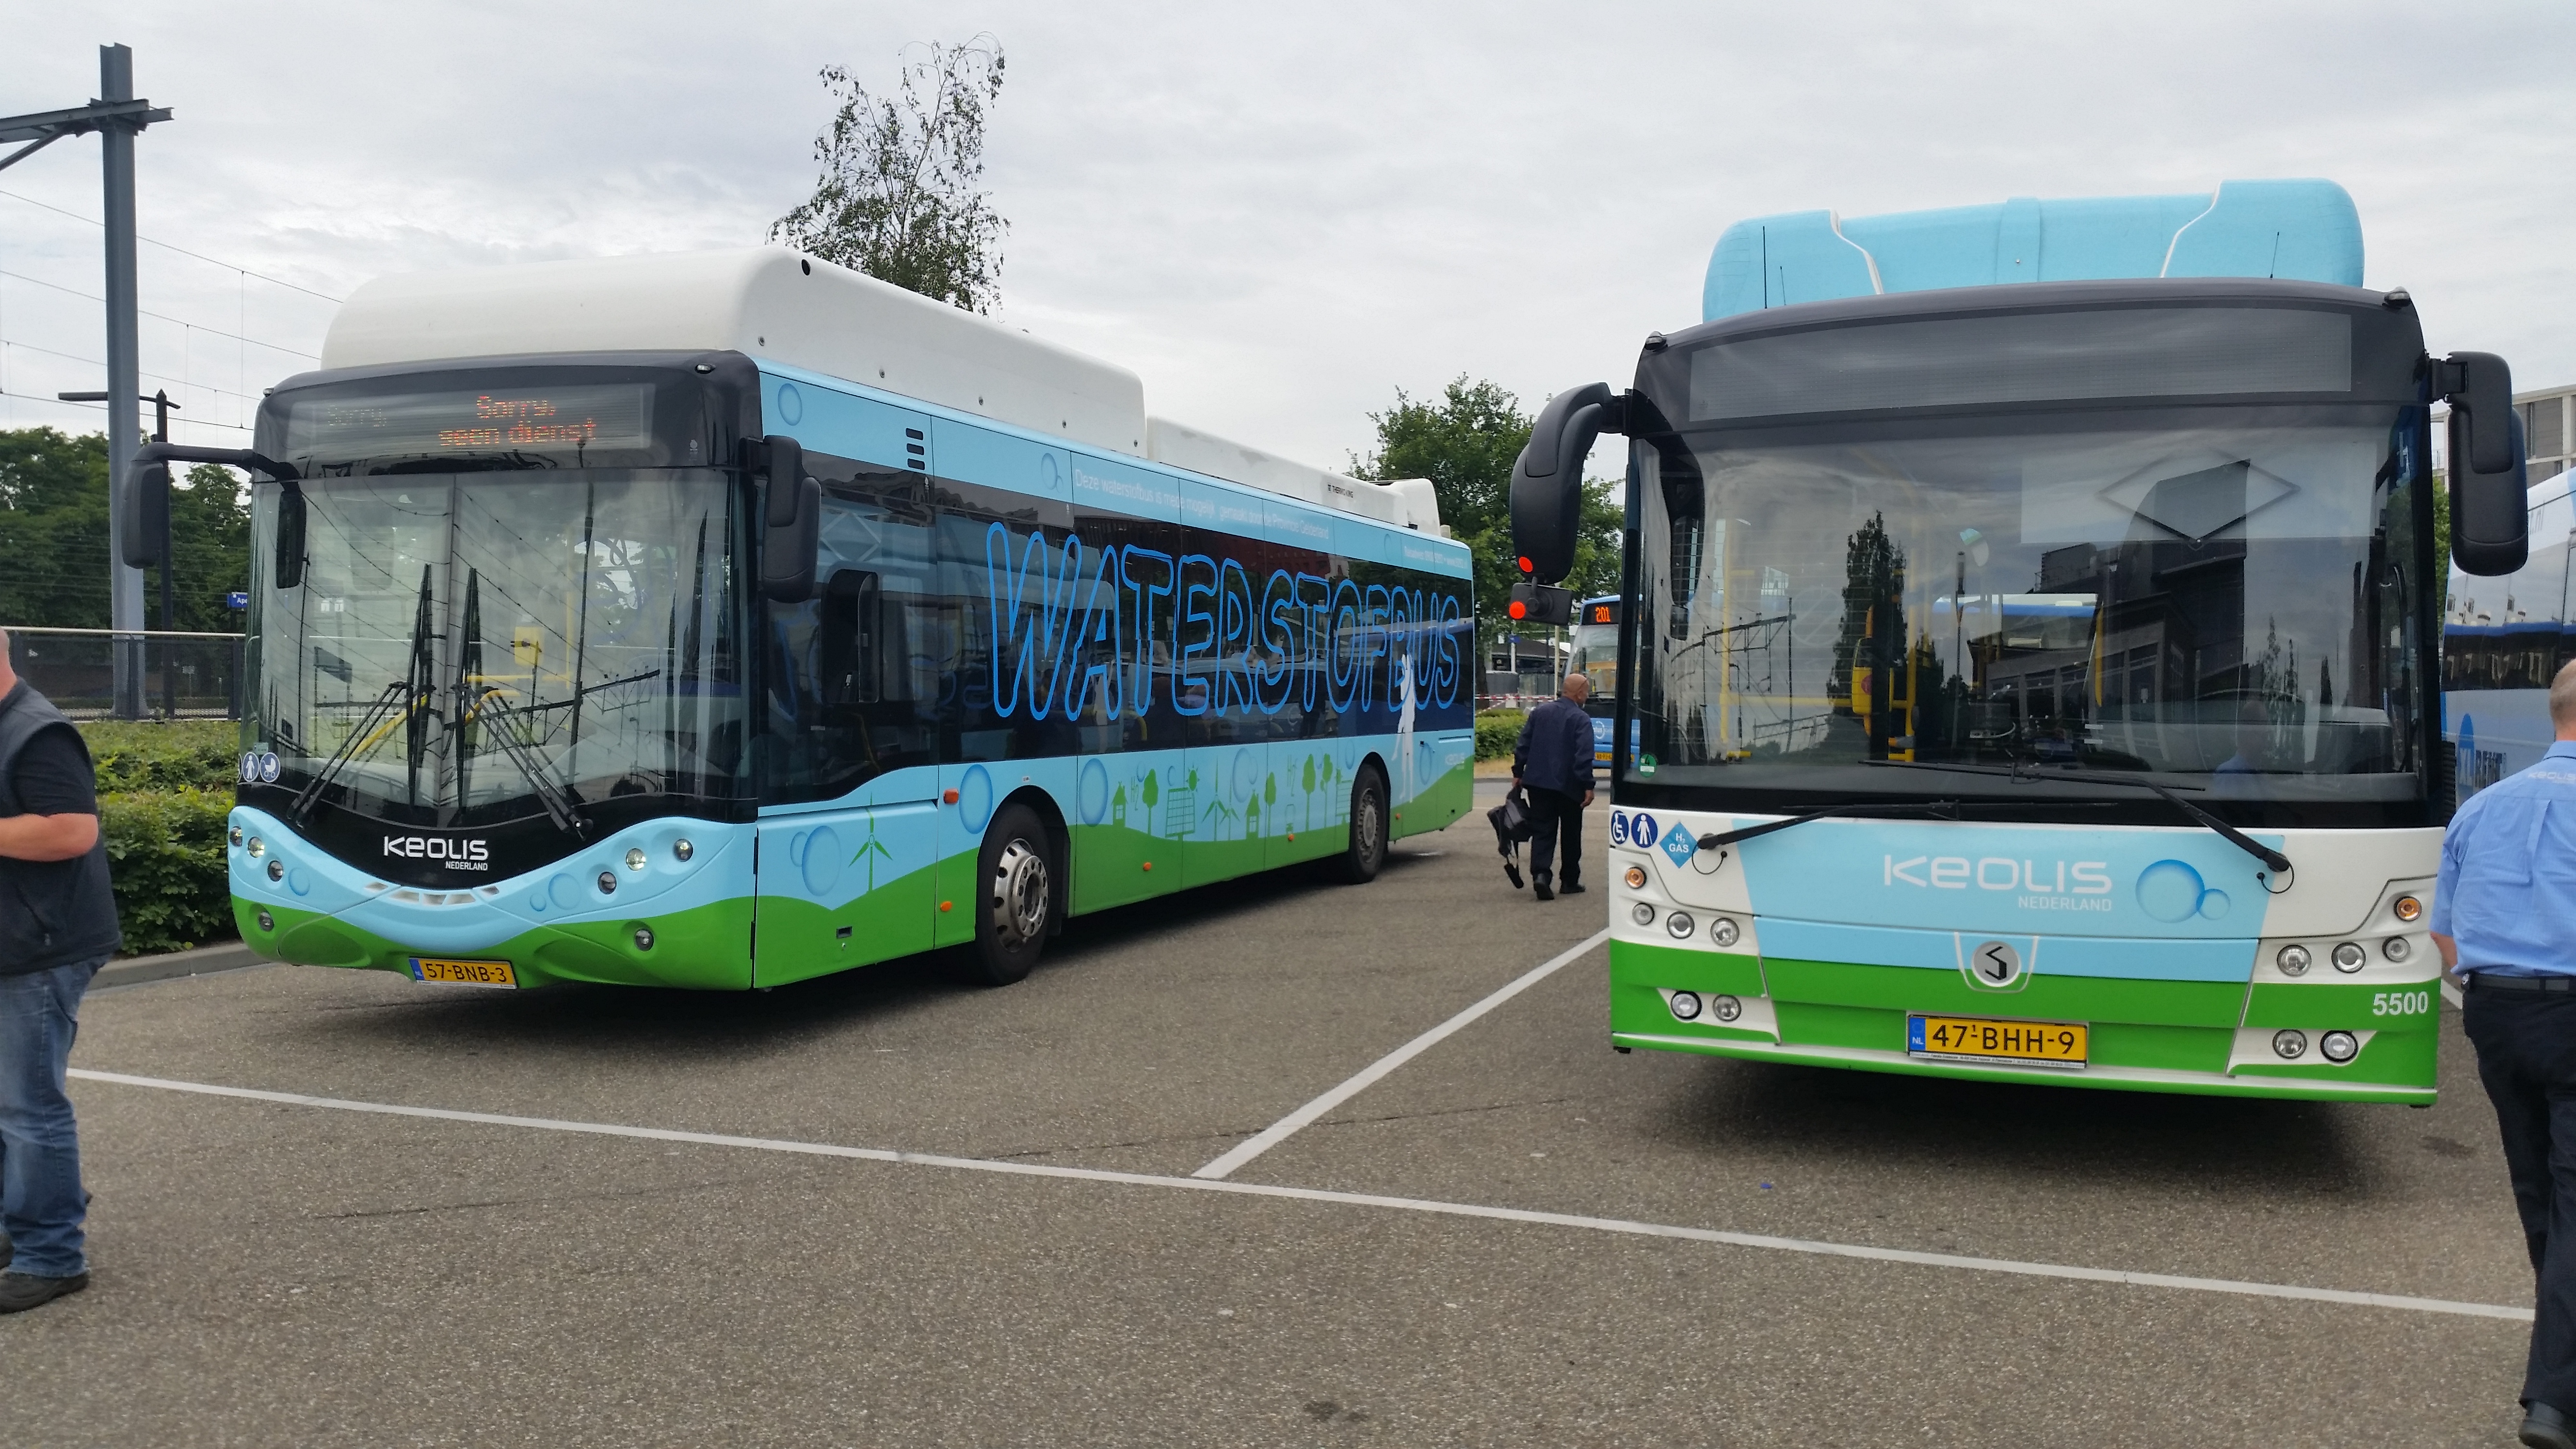
[[[1468,549],[778,248],[402,276],[260,405],[242,941],[770,987],[1468,804]]]

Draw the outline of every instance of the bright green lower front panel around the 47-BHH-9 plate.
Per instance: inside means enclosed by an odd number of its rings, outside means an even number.
[[[1960,972],[1610,941],[1618,1047],[2079,1088],[2429,1104],[2432,990],[2025,977],[2020,990],[1994,993]],[[1708,1006],[1685,1018],[1674,993]],[[1728,1021],[1716,998],[1734,1003]],[[2087,1060],[2048,1067],[1917,1055],[1906,1049],[1914,1013],[2084,1024]],[[2306,1039],[2352,1031],[2360,1052],[2349,1062],[2326,1062],[2316,1049],[2280,1060],[2264,1047],[2277,1029]]]

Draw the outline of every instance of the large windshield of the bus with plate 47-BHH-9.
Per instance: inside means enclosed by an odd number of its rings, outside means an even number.
[[[1996,792],[1865,763],[2081,766],[2246,820],[2403,815],[2421,425],[2130,407],[1641,441],[1628,779],[1829,802]]]

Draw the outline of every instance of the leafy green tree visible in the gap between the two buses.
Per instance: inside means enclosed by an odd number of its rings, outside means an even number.
[[[1458,374],[1440,400],[1396,389],[1396,405],[1370,413],[1378,446],[1350,459],[1350,474],[1365,480],[1427,477],[1440,498],[1440,521],[1473,552],[1476,567],[1476,657],[1479,670],[1510,629],[1504,603],[1520,583],[1520,557],[1512,552],[1512,462],[1530,441],[1530,418],[1520,400],[1492,382]],[[1610,480],[1587,480],[1574,544],[1574,572],[1561,583],[1577,598],[1613,593],[1620,575],[1620,505]]]

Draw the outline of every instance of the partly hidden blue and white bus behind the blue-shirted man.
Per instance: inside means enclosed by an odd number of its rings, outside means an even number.
[[[2576,505],[2568,503],[2568,446],[2576,387],[2514,400],[2524,467],[2532,477],[2530,559],[2504,578],[2452,570],[2442,611],[2442,737],[2458,753],[2460,799],[2540,763],[2550,727],[2550,678],[2576,660]]]

